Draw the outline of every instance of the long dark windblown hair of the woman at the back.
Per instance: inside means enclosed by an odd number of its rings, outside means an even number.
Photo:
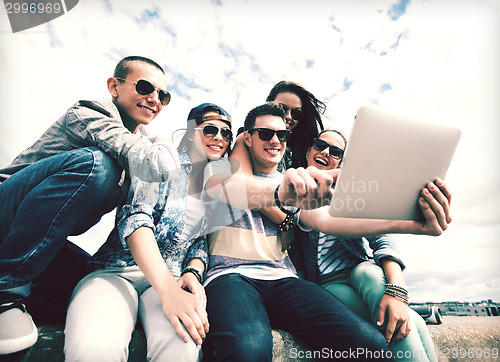
[[[312,141],[323,130],[321,115],[325,113],[326,105],[302,85],[290,81],[277,83],[267,96],[266,101],[273,102],[280,93],[293,93],[302,102],[304,118],[301,119],[288,141],[292,150],[292,167],[307,167],[306,153]]]

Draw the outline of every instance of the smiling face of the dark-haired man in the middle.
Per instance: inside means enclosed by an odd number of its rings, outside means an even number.
[[[283,119],[278,116],[264,115],[255,119],[254,128],[269,128],[272,130],[285,130]],[[262,173],[273,173],[277,170],[278,163],[285,153],[286,142],[280,142],[276,134],[269,141],[262,141],[259,132],[244,133],[245,144],[250,152],[253,169]]]

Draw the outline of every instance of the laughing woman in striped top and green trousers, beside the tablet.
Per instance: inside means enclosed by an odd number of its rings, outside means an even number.
[[[346,145],[339,131],[323,131],[308,151],[308,165],[320,170],[340,168]],[[290,255],[305,279],[318,283],[376,325],[393,356],[401,356],[398,360],[437,361],[425,321],[408,308],[405,266],[390,235],[350,237],[303,229]]]

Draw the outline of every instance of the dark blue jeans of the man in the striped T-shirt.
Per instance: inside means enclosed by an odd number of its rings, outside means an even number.
[[[388,351],[375,327],[303,279],[227,274],[211,281],[205,291],[210,322],[202,346],[206,360],[271,361],[272,329],[291,333],[324,359],[381,361]]]

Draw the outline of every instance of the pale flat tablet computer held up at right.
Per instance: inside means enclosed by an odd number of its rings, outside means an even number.
[[[335,184],[330,215],[422,220],[418,197],[444,179],[461,131],[383,109],[361,107]]]

